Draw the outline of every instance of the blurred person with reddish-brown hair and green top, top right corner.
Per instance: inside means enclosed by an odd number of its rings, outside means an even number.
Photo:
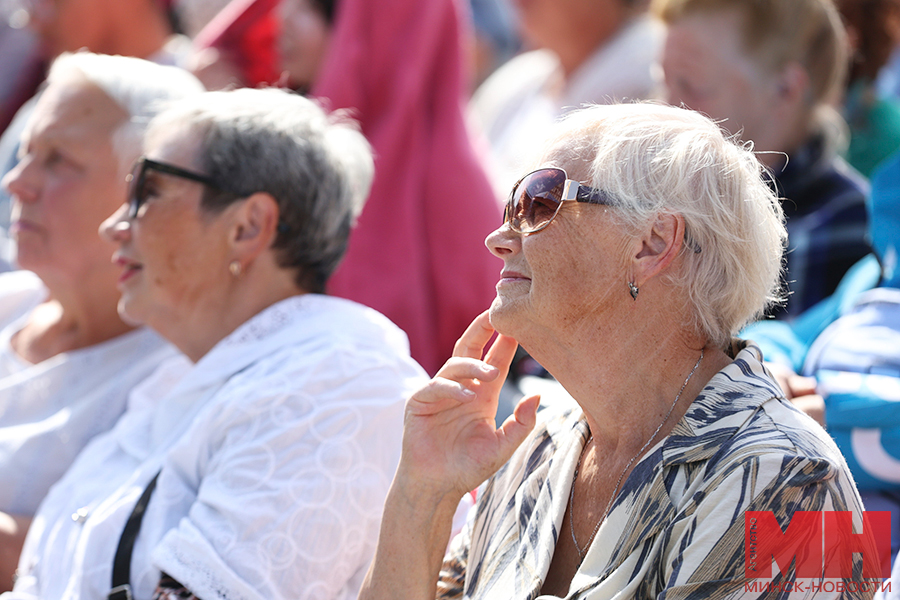
[[[847,162],[866,177],[900,149],[900,100],[883,97],[878,74],[900,41],[900,0],[837,0],[850,43],[843,114],[850,127]]]

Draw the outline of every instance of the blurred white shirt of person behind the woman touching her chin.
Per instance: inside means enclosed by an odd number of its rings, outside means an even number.
[[[568,80],[549,50],[520,54],[491,74],[472,97],[469,115],[487,137],[498,197],[505,200],[533,166],[533,154],[565,113],[586,104],[653,97],[662,41],[662,26],[640,16],[598,47]]]

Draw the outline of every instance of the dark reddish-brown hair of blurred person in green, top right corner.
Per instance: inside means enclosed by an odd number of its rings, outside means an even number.
[[[900,0],[838,0],[853,43],[849,83],[874,80],[900,40]]]

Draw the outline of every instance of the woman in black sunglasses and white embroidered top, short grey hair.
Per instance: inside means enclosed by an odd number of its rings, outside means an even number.
[[[187,358],[51,490],[9,598],[355,597],[426,380],[396,326],[321,294],[368,145],[300,96],[237,90],[173,104],[144,151],[101,232],[121,314]]]

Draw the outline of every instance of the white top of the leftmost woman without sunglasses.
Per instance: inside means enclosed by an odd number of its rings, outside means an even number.
[[[0,511],[28,517],[91,438],[115,425],[128,391],[177,352],[138,329],[28,363],[11,339],[46,296],[31,272],[0,275]]]

